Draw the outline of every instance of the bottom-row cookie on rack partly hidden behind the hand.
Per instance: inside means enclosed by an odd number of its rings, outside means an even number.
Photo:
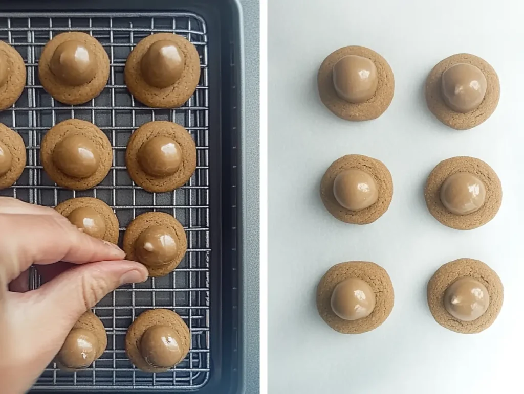
[[[100,358],[106,347],[104,324],[93,312],[87,311],[74,323],[55,361],[62,370],[84,369]]]

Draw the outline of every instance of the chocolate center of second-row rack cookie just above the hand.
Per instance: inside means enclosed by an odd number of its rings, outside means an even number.
[[[95,144],[84,136],[67,136],[53,150],[53,162],[64,174],[74,178],[93,175],[100,165]]]

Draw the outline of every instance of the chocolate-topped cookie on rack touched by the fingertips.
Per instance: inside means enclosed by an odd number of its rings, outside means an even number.
[[[151,247],[143,250],[147,243]],[[177,219],[165,212],[146,212],[127,226],[122,249],[127,260],[144,264],[149,276],[164,276],[180,264],[187,247],[187,236]]]

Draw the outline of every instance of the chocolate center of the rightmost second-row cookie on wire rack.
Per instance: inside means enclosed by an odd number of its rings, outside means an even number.
[[[169,137],[153,137],[139,149],[137,159],[149,175],[165,177],[177,172],[182,163],[182,149]]]

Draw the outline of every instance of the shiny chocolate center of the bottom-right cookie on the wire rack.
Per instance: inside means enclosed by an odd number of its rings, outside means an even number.
[[[169,368],[180,362],[178,334],[168,325],[149,327],[140,339],[140,354],[152,367]]]

